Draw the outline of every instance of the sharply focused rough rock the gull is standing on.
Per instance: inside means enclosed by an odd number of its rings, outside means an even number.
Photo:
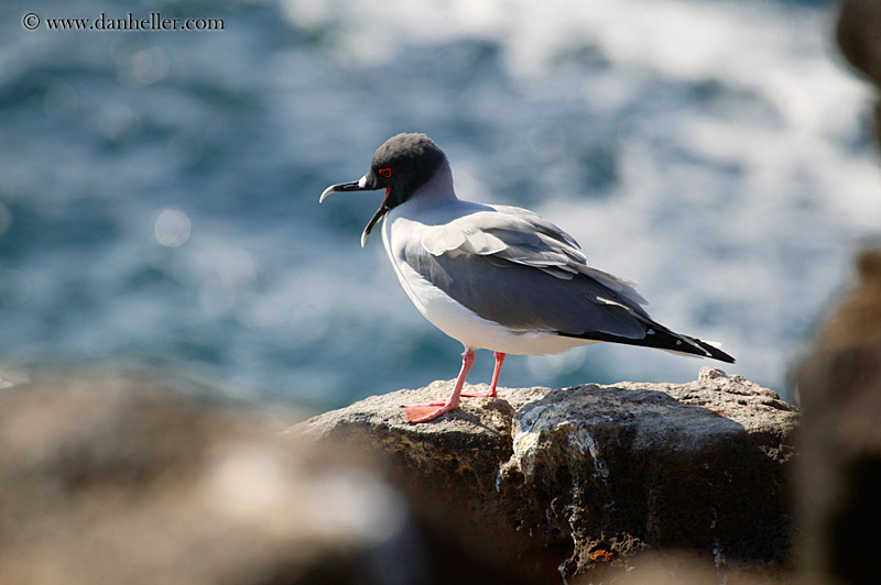
[[[425,424],[402,405],[453,382],[373,396],[289,431],[389,462],[426,523],[526,582],[559,582],[643,550],[718,571],[785,566],[797,410],[719,369],[683,385],[500,389]]]

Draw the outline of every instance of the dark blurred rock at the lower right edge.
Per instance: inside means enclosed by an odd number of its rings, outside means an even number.
[[[875,583],[881,523],[881,247],[820,323],[796,371],[801,558],[812,583]]]

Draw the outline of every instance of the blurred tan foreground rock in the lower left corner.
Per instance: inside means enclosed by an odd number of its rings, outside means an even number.
[[[429,582],[406,505],[369,461],[166,383],[11,378],[4,585]]]

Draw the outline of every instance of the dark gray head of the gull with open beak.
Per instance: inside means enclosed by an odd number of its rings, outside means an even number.
[[[331,192],[385,189],[382,205],[361,234],[361,246],[363,246],[365,240],[377,222],[390,209],[410,199],[434,176],[446,159],[444,151],[425,134],[398,134],[377,148],[367,175],[351,183],[331,185],[324,190],[318,202],[324,201]]]

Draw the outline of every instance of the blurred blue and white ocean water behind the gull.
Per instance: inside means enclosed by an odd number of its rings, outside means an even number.
[[[22,16],[221,18],[214,32]],[[792,399],[786,372],[881,225],[870,92],[834,4],[619,0],[3,2],[0,367],[97,364],[330,408],[458,372],[352,180],[402,131],[459,196],[530,207],[661,322]],[[512,357],[503,386],[687,380],[631,347]],[[488,382],[478,354],[471,382]]]

